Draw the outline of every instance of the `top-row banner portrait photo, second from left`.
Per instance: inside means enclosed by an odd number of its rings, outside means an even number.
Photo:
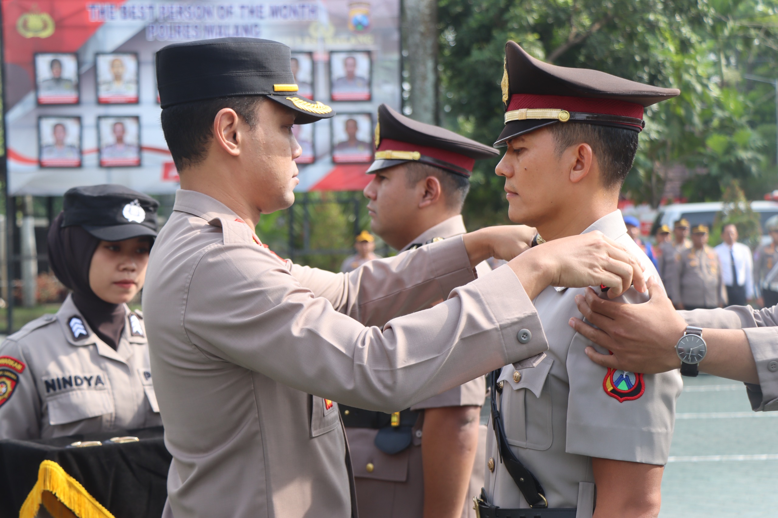
[[[138,103],[138,54],[95,54],[97,102]]]

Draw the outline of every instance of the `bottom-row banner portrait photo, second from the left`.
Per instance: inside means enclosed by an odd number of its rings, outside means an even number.
[[[97,117],[100,167],[141,165],[140,118]]]

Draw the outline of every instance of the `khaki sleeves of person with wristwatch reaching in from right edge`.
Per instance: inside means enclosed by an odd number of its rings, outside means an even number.
[[[778,410],[778,306],[763,310],[755,310],[752,306],[728,306],[678,313],[690,326],[745,331],[759,376],[759,385],[744,383],[748,400],[754,411]]]

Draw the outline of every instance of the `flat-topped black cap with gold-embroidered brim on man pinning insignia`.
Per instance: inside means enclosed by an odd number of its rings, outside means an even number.
[[[187,41],[156,53],[163,108],[229,96],[268,96],[297,112],[295,124],[332,117],[331,107],[297,95],[291,51],[278,41],[218,38]]]

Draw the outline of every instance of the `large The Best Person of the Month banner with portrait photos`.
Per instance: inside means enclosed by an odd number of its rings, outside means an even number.
[[[288,45],[296,60],[289,63],[299,86],[295,95],[338,113],[361,114],[355,116],[360,142],[372,142],[370,126],[380,103],[401,109],[399,0],[0,0],[0,5],[12,195],[58,196],[78,185],[111,183],[173,194],[179,176],[159,123],[154,61],[169,44],[255,37]],[[63,128],[71,147],[58,146],[53,126],[41,130],[39,117],[70,121]],[[80,117],[80,126],[73,117]],[[344,167],[355,179],[349,189],[370,180],[363,170],[372,148],[351,156],[342,148],[334,152],[345,142],[343,121],[337,137],[328,120],[294,130],[303,149],[296,159],[296,191],[315,189]],[[56,148],[46,151],[54,162],[43,159],[44,145]],[[77,160],[70,157],[74,149]],[[344,157],[360,161],[342,166]]]

